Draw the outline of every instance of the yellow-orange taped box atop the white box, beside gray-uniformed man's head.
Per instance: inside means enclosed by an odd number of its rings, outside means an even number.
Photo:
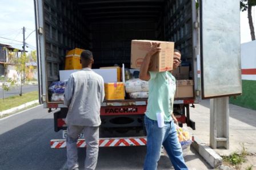
[[[83,50],[80,48],[75,48],[74,50],[67,52],[65,58],[65,70],[79,70],[82,68],[82,64],[80,63],[82,51]]]

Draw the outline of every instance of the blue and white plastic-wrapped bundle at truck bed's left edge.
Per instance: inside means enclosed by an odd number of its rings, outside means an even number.
[[[66,85],[67,80],[51,83],[49,91],[51,92],[52,102],[59,102],[64,100],[64,92]]]

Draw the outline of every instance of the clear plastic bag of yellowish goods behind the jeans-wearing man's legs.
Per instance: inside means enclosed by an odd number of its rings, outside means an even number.
[[[189,132],[186,129],[179,127],[178,125],[176,125],[176,129],[177,129],[179,143],[181,143],[182,149],[189,147],[190,144],[192,143]]]

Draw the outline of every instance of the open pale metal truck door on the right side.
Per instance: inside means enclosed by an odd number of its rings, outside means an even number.
[[[242,94],[239,1],[200,1],[202,99]]]

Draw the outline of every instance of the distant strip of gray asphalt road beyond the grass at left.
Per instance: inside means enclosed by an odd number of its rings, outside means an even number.
[[[11,87],[10,91],[5,91],[5,98],[9,96],[19,95],[21,86]],[[22,87],[22,94],[31,91],[38,91],[38,85],[25,85]],[[0,87],[0,99],[3,98],[3,88]]]

